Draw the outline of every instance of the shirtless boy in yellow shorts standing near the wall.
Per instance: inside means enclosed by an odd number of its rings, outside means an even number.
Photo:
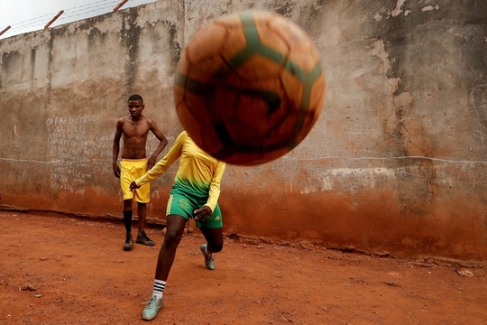
[[[132,205],[133,200],[137,202],[137,213],[139,216],[138,235],[135,243],[145,246],[153,246],[154,242],[147,237],[144,231],[147,203],[150,200],[150,185],[144,185],[140,189],[130,190],[132,181],[141,177],[149,171],[156,163],[158,155],[168,144],[166,136],[161,132],[159,126],[151,118],[142,115],[144,105],[140,95],[132,95],[128,99],[129,116],[119,118],[116,122],[114,138],[113,168],[115,177],[120,179],[122,192],[124,193],[124,225],[126,231],[124,250],[133,247],[132,237]],[[147,159],[145,144],[149,131],[160,141],[156,151]],[[120,139],[124,135],[124,148],[120,166],[117,163],[120,153]]]

